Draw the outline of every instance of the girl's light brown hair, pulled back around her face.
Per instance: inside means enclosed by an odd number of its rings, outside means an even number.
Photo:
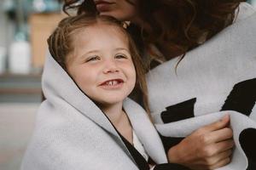
[[[61,65],[61,67],[67,71],[68,58],[73,56],[69,54],[73,53],[73,41],[75,35],[79,33],[79,31],[86,29],[86,27],[96,26],[99,24],[113,26],[117,31],[127,37],[131,59],[136,70],[137,83],[135,89],[139,90],[139,92],[142,94],[143,105],[146,111],[149,113],[148,89],[145,80],[145,69],[143,67],[143,62],[129,33],[122,26],[122,23],[115,20],[113,17],[101,16],[98,14],[79,14],[76,16],[69,16],[61,20],[55,31],[48,38],[50,54],[59,63],[59,65]]]

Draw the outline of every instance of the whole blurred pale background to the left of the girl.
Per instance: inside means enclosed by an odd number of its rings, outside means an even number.
[[[19,169],[31,138],[46,39],[66,16],[61,7],[58,0],[0,0],[0,170]]]

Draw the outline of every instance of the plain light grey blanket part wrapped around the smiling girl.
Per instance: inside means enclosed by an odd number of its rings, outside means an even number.
[[[22,170],[138,169],[107,116],[50,55],[42,82],[46,100],[38,110]],[[131,99],[125,99],[124,109],[148,155],[166,163],[160,137],[145,111]]]

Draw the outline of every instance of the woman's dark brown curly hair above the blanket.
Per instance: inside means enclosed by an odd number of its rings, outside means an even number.
[[[150,44],[154,44],[168,60],[184,56],[190,49],[230,26],[235,20],[236,8],[245,0],[137,1],[144,26],[137,31],[132,29],[132,36],[142,38],[143,48],[153,55]],[[67,12],[69,8],[78,9],[78,14],[97,13],[92,0],[65,0],[63,10]]]

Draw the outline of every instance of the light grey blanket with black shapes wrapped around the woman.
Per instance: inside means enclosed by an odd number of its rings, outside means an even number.
[[[176,73],[177,60],[147,77],[150,109],[166,148],[228,113],[236,149],[220,169],[256,169],[256,13],[190,51]]]

